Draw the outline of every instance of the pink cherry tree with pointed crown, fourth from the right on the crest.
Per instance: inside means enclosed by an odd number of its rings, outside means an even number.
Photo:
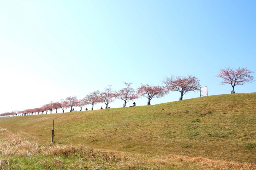
[[[126,107],[126,103],[128,103],[130,100],[137,99],[138,96],[136,91],[131,87],[132,83],[124,82],[124,84],[126,85],[126,87],[119,91],[115,91],[114,96],[115,98],[123,100],[125,102],[124,107]]]

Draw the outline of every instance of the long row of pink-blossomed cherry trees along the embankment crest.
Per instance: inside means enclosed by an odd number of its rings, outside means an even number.
[[[230,84],[232,86],[232,91],[235,93],[235,86],[236,85],[243,85],[246,82],[254,81],[253,76],[250,74],[253,73],[252,71],[248,70],[247,68],[238,68],[234,70],[233,68],[221,69],[220,73],[216,76],[222,78],[223,81],[221,84]],[[120,99],[124,101],[123,107],[126,107],[126,103],[130,100],[137,99],[139,97],[146,97],[148,98],[148,105],[153,98],[160,98],[164,97],[169,91],[179,91],[180,92],[180,100],[182,100],[183,96],[188,91],[197,91],[199,90],[200,83],[196,76],[188,75],[187,77],[174,77],[171,75],[170,77],[166,77],[162,84],[160,85],[141,85],[134,90],[131,87],[131,83],[126,83],[125,88],[120,89],[119,91],[113,91],[111,85],[106,87],[104,91],[94,91],[86,95],[86,97],[82,99],[77,99],[76,96],[67,97],[65,100],[61,100],[60,102],[51,102],[48,104],[43,105],[40,108],[33,108],[33,109],[26,109],[23,111],[13,111],[0,114],[0,116],[8,116],[8,115],[33,115],[33,114],[47,114],[50,112],[52,114],[53,110],[61,109],[62,112],[67,108],[70,108],[70,112],[74,109],[73,107],[79,107],[80,111],[82,111],[82,107],[88,104],[92,105],[92,110],[94,105],[97,103],[104,103],[106,108],[108,108],[109,103],[113,102],[115,99]]]

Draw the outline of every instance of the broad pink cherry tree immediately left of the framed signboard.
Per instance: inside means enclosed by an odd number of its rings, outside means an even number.
[[[166,88],[170,91],[179,91],[180,92],[180,100],[183,99],[183,96],[188,91],[196,91],[199,90],[200,83],[197,77],[188,75],[187,77],[166,77],[165,80],[162,81],[166,85]]]

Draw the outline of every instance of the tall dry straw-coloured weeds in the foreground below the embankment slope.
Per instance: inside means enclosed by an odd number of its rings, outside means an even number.
[[[131,154],[106,149],[92,149],[83,146],[48,144],[40,146],[38,142],[29,142],[18,135],[0,128],[0,167],[11,168],[9,163],[11,156],[27,157],[32,155],[53,156],[46,160],[37,160],[46,169],[65,169],[61,156],[75,158],[71,163],[71,169],[91,169],[94,167],[111,169],[256,169],[253,163],[239,163],[231,161],[214,161],[201,157],[188,157],[180,155],[150,156]],[[33,157],[33,159],[38,159]]]

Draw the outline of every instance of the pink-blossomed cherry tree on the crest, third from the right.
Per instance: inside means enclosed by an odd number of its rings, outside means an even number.
[[[148,98],[148,105],[150,105],[150,101],[152,98],[164,97],[164,95],[168,94],[168,90],[165,87],[161,87],[159,85],[141,84],[141,86],[137,89],[137,94],[139,96]]]

